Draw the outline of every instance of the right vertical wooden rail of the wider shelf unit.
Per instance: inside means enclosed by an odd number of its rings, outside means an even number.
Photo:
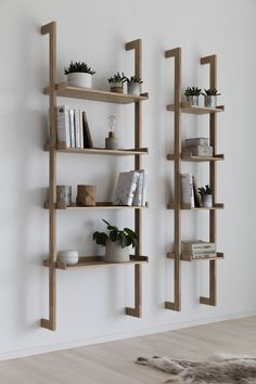
[[[126,50],[135,50],[135,75],[142,78],[142,41],[141,39],[133,40],[126,43]],[[135,103],[135,148],[141,148],[142,143],[142,104],[141,102]],[[141,169],[142,162],[141,155],[135,155],[135,170]],[[142,255],[141,253],[141,226],[142,213],[141,209],[135,209],[135,229],[138,235],[138,245],[136,247],[136,256]],[[126,315],[141,318],[142,316],[142,266],[135,265],[135,308],[127,307]]]

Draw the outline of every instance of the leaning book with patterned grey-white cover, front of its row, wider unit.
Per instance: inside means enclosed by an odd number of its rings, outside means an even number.
[[[113,199],[114,205],[129,205],[131,206],[139,174],[137,171],[120,172]]]

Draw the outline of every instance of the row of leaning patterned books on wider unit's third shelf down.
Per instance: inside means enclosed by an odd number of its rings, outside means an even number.
[[[114,193],[114,205],[145,206],[146,170],[120,172]]]

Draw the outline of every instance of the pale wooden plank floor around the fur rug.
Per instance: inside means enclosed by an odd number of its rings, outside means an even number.
[[[256,317],[169,331],[0,362],[1,384],[158,384],[168,374],[138,356],[200,359],[226,351],[256,356]]]

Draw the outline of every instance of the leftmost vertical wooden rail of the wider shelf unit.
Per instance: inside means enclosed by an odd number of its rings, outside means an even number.
[[[50,152],[49,152],[49,319],[41,319],[41,327],[55,331],[56,329],[56,23],[52,22],[41,27],[41,34],[49,34],[49,114],[50,114]]]

